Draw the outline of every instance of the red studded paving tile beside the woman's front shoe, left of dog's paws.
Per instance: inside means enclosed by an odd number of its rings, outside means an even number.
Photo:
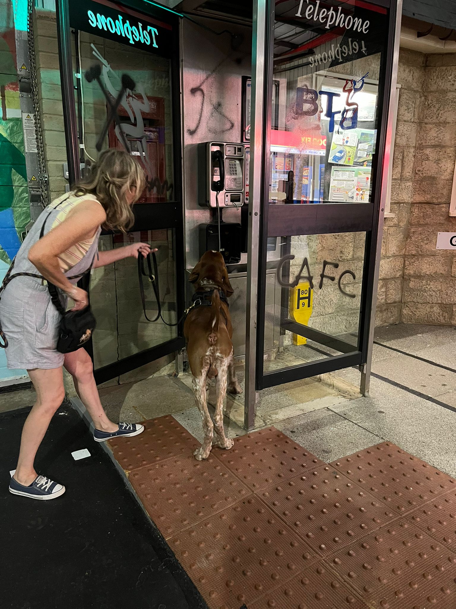
[[[193,454],[197,440],[173,417],[159,417],[144,423],[142,434],[109,440],[114,457],[123,470],[131,471],[180,454]]]

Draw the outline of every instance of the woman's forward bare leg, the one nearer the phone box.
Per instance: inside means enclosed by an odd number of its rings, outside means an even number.
[[[65,354],[64,367],[74,379],[74,386],[81,402],[94,421],[95,429],[109,433],[118,431],[119,425],[112,423],[103,410],[94,379],[92,360],[85,349]]]

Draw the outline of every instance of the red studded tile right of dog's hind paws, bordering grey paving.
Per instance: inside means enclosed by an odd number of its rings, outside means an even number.
[[[230,451],[216,456],[253,491],[323,465],[274,427],[236,438]]]

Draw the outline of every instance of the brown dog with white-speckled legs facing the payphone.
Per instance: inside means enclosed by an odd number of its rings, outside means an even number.
[[[232,448],[233,441],[225,436],[223,429],[223,400],[227,385],[230,393],[241,393],[233,368],[233,328],[227,304],[220,299],[219,292],[226,297],[233,294],[223,256],[219,252],[206,252],[201,256],[190,279],[200,300],[210,306],[197,306],[187,315],[184,336],[187,340],[187,355],[192,370],[192,386],[196,406],[202,417],[204,441],[194,454],[201,461],[209,457],[212,444],[219,448]],[[207,296],[205,296],[207,294]],[[210,299],[210,300],[208,300]],[[216,377],[216,406],[214,421],[209,415],[206,402],[207,379]],[[228,380],[227,380],[228,379]],[[213,441],[213,428],[216,438]]]

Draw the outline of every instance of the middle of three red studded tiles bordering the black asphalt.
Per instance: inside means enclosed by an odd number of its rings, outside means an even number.
[[[251,494],[213,456],[171,457],[134,470],[129,480],[165,539]]]

